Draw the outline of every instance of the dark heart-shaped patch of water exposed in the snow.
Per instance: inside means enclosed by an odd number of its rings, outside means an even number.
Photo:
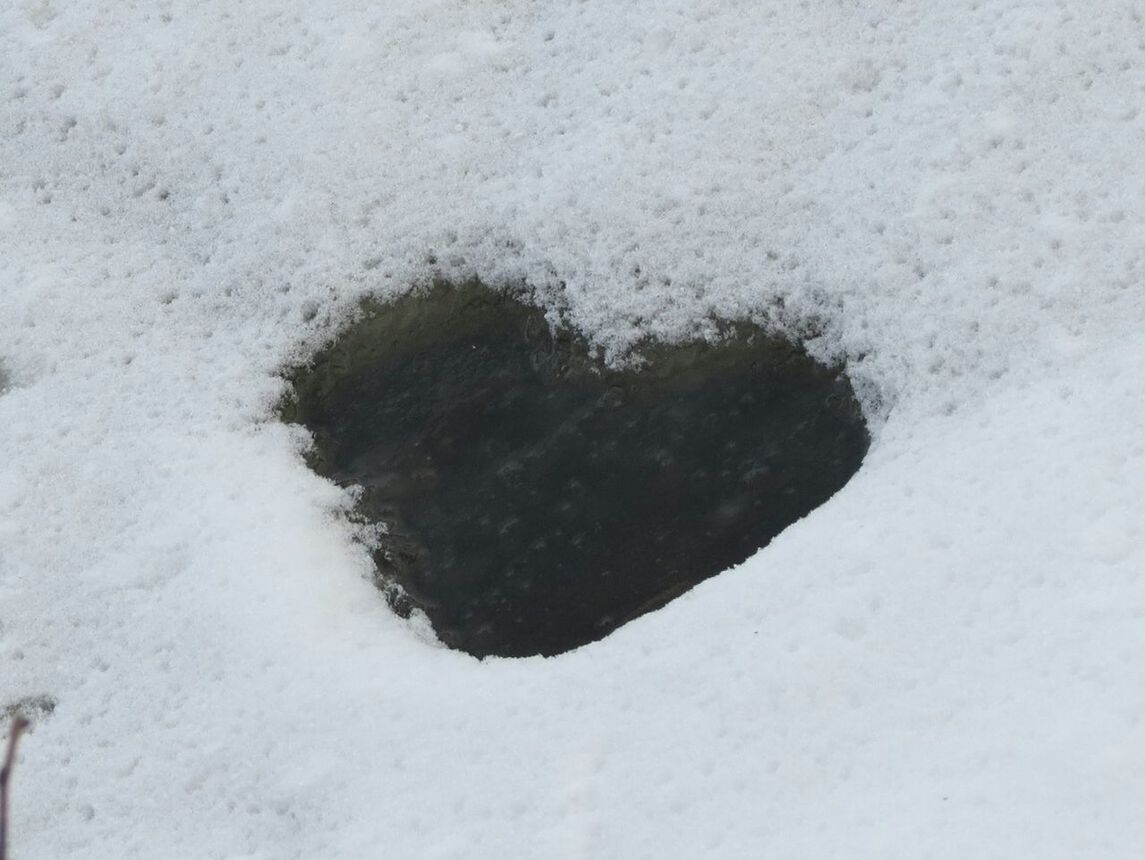
[[[845,377],[741,330],[603,371],[480,287],[374,309],[294,378],[315,467],[365,488],[379,579],[476,656],[559,654],[736,565],[836,492]]]

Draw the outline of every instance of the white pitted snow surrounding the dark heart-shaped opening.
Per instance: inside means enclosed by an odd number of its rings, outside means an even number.
[[[1145,2],[0,3],[34,858],[1138,858]],[[450,652],[274,418],[365,294],[752,317],[874,442],[560,657]]]

